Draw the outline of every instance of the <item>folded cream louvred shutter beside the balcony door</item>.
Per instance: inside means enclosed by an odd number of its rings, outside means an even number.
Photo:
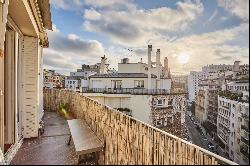
[[[38,136],[38,39],[23,38],[23,137]]]

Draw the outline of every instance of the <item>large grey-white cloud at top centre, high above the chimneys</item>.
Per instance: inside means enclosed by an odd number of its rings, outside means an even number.
[[[107,35],[115,44],[144,46],[150,39],[160,40],[160,32],[185,30],[203,12],[200,1],[178,2],[176,7],[127,11],[92,8],[85,10],[83,26],[85,30]]]

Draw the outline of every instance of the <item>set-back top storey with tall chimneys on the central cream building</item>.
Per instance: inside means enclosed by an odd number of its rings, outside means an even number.
[[[160,49],[156,52],[156,62],[151,60],[152,46],[148,46],[148,64],[129,63],[128,58],[118,64],[117,73],[108,73],[104,68],[107,59],[102,57],[100,73],[89,76],[90,89],[163,89],[170,92],[171,79],[160,62]],[[166,62],[166,61],[165,61]],[[164,64],[165,68],[168,64]]]

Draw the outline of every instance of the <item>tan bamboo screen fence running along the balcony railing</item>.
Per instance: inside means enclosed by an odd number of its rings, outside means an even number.
[[[219,165],[235,163],[178,137],[101,105],[77,92],[44,90],[44,109],[68,103],[104,140],[104,164],[116,165]]]

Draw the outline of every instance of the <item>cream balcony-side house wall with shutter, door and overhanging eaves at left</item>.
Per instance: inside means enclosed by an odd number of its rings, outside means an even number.
[[[0,151],[7,163],[43,116],[43,56],[49,0],[0,1]]]

